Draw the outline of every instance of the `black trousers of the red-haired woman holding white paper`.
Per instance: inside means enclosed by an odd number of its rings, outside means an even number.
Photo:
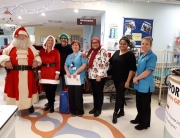
[[[71,114],[84,114],[83,109],[83,89],[84,85],[68,86],[69,108]]]

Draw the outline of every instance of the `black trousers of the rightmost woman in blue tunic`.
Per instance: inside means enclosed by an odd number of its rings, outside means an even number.
[[[143,127],[150,127],[151,120],[151,92],[141,93],[136,91],[137,116],[135,120]]]

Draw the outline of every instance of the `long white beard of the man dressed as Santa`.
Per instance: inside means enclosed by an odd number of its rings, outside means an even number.
[[[29,38],[25,38],[24,40],[20,40],[18,38],[13,38],[12,45],[17,48],[27,49],[32,46],[32,43]]]

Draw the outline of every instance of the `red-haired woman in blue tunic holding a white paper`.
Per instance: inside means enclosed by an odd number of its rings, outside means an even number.
[[[80,75],[81,85],[68,85],[69,107],[72,116],[77,115],[81,117],[84,114],[83,89],[86,78],[85,69],[87,65],[87,59],[82,57],[79,41],[74,40],[71,43],[71,46],[73,53],[68,55],[66,58],[64,69],[66,71],[67,77],[69,78],[76,78],[77,75]]]

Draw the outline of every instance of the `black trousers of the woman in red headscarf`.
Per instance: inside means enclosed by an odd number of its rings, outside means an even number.
[[[104,84],[107,78],[101,78],[101,81],[97,82],[96,79],[90,79],[91,87],[93,91],[94,109],[101,111],[104,101]]]

